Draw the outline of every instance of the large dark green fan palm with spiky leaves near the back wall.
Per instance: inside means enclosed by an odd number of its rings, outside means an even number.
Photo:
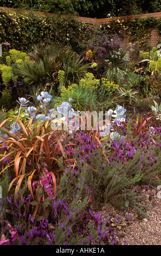
[[[42,87],[50,80],[57,81],[55,75],[58,69],[65,71],[65,82],[78,82],[91,67],[91,64],[83,64],[83,58],[70,46],[63,46],[59,42],[44,49],[35,46],[29,56],[32,62],[18,68],[17,72],[24,77],[25,83],[36,87]]]

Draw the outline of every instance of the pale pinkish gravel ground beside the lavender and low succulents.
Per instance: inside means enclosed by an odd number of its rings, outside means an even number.
[[[161,245],[161,198],[153,197],[148,203],[147,216],[139,215],[133,209],[117,210],[110,204],[102,208],[101,212],[105,218],[108,214],[115,217],[117,214],[125,217],[125,213],[132,213],[132,223],[116,229],[116,240],[119,245]],[[112,223],[112,222],[111,222]]]

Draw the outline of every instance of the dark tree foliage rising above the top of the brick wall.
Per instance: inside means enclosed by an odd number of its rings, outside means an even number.
[[[161,11],[161,0],[0,0],[0,6],[100,19],[157,13]]]

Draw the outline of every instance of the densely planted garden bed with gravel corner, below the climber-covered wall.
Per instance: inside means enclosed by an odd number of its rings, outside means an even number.
[[[2,245],[160,244],[160,58],[91,29],[0,66]]]

